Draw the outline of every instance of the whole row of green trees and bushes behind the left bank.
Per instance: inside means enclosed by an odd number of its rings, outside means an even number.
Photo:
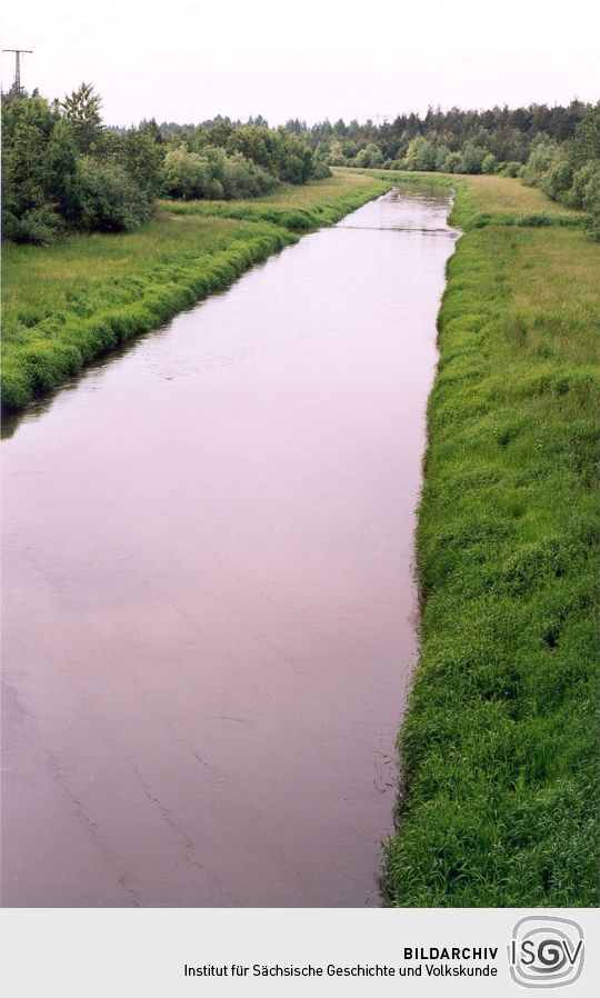
[[[156,198],[251,198],[329,174],[283,128],[237,124],[163,136],[154,122],[103,127],[90,84],[62,102],[2,99],[3,237],[50,243],[64,232],[130,231]]]

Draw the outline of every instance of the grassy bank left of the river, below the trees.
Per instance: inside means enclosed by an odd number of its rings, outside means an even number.
[[[161,202],[128,234],[3,251],[2,401],[26,407],[107,350],[231,283],[299,231],[331,224],[391,181],[332,177],[266,199]]]

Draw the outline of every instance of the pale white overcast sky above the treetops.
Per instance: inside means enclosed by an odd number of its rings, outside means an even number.
[[[442,108],[600,97],[591,0],[6,0],[2,46],[22,84],[62,97],[82,80],[104,119],[216,114],[393,119]],[[3,56],[3,88],[13,57]]]

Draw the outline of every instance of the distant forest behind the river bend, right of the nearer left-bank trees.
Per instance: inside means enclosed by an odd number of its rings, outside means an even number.
[[[521,177],[548,197],[588,212],[600,238],[600,104],[493,108],[402,114],[379,127],[368,121],[288,122],[331,166]]]

